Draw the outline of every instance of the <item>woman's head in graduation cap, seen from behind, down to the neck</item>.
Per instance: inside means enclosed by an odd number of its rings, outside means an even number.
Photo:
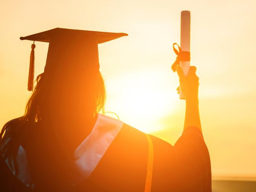
[[[106,95],[99,71],[98,44],[125,35],[55,28],[20,37],[49,42],[45,72],[37,78],[27,105],[28,120],[90,118],[103,109]]]

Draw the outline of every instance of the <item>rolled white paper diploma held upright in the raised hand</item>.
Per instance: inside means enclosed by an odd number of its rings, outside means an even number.
[[[182,11],[180,21],[180,48],[182,51],[190,52],[190,12]],[[185,76],[187,76],[190,68],[190,61],[180,61],[180,67]],[[185,95],[182,93],[181,89],[180,99],[185,99]]]

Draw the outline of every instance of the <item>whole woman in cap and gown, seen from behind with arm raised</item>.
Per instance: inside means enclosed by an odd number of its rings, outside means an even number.
[[[210,192],[211,166],[198,109],[198,77],[177,66],[186,96],[176,144],[99,114],[106,98],[98,44],[125,33],[56,28],[21,40],[49,42],[25,114],[0,135],[0,191]]]

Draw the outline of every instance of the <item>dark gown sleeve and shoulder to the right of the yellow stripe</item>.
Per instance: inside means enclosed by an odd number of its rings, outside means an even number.
[[[211,192],[210,156],[197,127],[187,127],[174,146],[150,136],[154,145],[151,192]]]

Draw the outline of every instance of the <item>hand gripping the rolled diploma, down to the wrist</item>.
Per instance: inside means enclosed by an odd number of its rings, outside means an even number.
[[[180,78],[180,89],[184,93],[186,100],[198,100],[199,78],[196,75],[197,68],[190,66],[187,76],[185,76],[180,66],[176,66],[176,70]]]

